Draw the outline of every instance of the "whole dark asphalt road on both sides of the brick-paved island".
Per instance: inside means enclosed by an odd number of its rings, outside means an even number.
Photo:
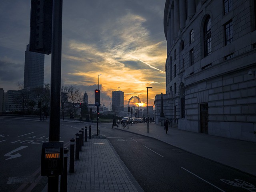
[[[69,139],[88,124],[60,122],[60,140]],[[0,191],[42,191],[47,178],[40,176],[42,143],[48,141],[49,122],[0,118]],[[255,177],[206,160],[159,140],[99,124],[146,192],[239,191],[256,192]],[[92,134],[96,124],[92,124]]]

